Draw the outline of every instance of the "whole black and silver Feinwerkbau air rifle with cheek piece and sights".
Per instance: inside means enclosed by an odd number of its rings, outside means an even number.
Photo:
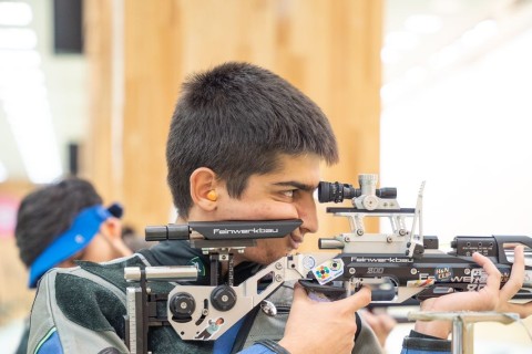
[[[197,279],[194,266],[126,268],[125,342],[131,353],[147,353],[151,326],[171,325],[182,340],[218,339],[285,281],[299,281],[315,299],[336,300],[350,295],[362,285],[372,289],[372,302],[398,304],[410,299],[424,300],[457,291],[478,291],[487,275],[472,253],[489,257],[501,271],[502,284],[509,279],[513,248],[525,246],[531,256],[529,237],[457,237],[452,251],[440,251],[437,237],[422,235],[421,185],[416,208],[400,208],[396,188],[377,189],[376,175],[360,175],[360,188],[323,181],[318,187],[320,202],[351,199],[352,208],[328,208],[327,212],[348,217],[351,232],[319,240],[320,249],[330,252],[298,253],[283,257],[266,266],[238,285],[234,284],[233,258],[246,247],[265,238],[282,238],[301,225],[301,220],[208,221],[146,228],[146,241],[186,240],[209,257],[208,285]],[[390,232],[370,233],[366,217],[388,218]],[[411,221],[411,222],[409,222]],[[340,250],[340,253],[338,253]],[[227,270],[222,281],[222,264]],[[260,280],[270,279],[266,287]],[[166,293],[156,293],[154,282],[176,282]],[[532,266],[516,300],[532,300]],[[161,315],[161,303],[166,313]]]

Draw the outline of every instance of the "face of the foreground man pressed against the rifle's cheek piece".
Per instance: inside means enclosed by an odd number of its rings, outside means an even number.
[[[297,249],[307,232],[316,232],[318,219],[314,190],[319,183],[321,159],[316,155],[280,155],[279,168],[266,175],[252,175],[241,198],[231,198],[221,188],[217,220],[301,219],[303,225],[290,235],[257,241],[248,247],[242,260],[269,264]]]

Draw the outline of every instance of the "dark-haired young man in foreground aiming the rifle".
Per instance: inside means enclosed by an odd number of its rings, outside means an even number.
[[[263,239],[235,254],[234,282],[255,274],[297,250],[318,228],[313,191],[321,163],[338,160],[335,136],[323,112],[272,72],[246,63],[226,63],[192,76],[176,105],[166,149],[168,185],[178,211],[176,223],[221,220],[300,219],[280,239]],[[489,284],[471,294],[453,294],[423,304],[429,310],[507,310],[523,278],[516,249],[511,281],[499,291],[500,274],[475,256]],[[195,264],[208,284],[208,258],[185,241],[165,241],[125,260],[80,263],[41,281],[33,305],[29,353],[126,352],[124,267]],[[499,278],[498,278],[499,277]],[[160,284],[162,291],[174,285]],[[293,303],[290,305],[290,300]],[[356,311],[370,292],[335,302],[315,302],[303,288],[282,287],[268,300],[290,305],[289,316],[252,311],[216,341],[182,341],[170,326],[151,327],[152,353],[378,353],[370,330],[357,325]],[[469,303],[468,303],[469,301]],[[523,315],[532,312],[520,308]],[[243,324],[243,322],[245,324]],[[407,347],[447,348],[450,327],[420,323]],[[434,336],[430,336],[434,335]],[[428,351],[426,351],[428,353]],[[47,352],[48,353],[48,352]]]

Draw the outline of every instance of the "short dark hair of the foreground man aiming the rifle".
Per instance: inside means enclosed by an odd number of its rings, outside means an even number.
[[[275,170],[279,154],[338,160],[327,117],[286,80],[229,62],[183,84],[166,145],[167,181],[181,217],[192,207],[188,179],[196,168],[213,169],[238,198],[250,175]]]

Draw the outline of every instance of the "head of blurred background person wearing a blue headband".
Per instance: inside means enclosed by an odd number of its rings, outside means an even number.
[[[14,230],[20,259],[29,269],[28,287],[37,287],[50,269],[74,261],[101,262],[131,256],[122,241],[122,208],[102,206],[86,180],[70,177],[27,195],[19,206]],[[18,353],[25,353],[24,333]]]

